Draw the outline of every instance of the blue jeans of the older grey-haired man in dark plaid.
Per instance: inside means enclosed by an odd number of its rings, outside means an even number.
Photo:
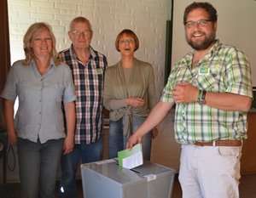
[[[82,163],[102,160],[103,137],[96,143],[75,144],[71,153],[61,157],[61,182],[59,196],[61,198],[76,197],[76,173]]]

